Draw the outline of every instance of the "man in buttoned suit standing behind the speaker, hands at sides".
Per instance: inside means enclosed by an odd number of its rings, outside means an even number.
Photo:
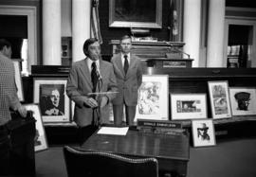
[[[137,89],[142,82],[142,64],[137,56],[131,53],[131,47],[131,37],[123,36],[120,40],[121,52],[113,56],[111,60],[119,88],[117,97],[112,101],[114,123],[117,126],[122,123],[123,105],[125,106],[127,125],[134,124],[137,106]]]

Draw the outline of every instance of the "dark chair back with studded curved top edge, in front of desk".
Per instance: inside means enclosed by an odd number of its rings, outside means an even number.
[[[155,158],[129,158],[65,146],[64,160],[68,177],[158,177]]]

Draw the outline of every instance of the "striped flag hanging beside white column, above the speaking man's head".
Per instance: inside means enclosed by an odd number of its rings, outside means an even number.
[[[98,39],[102,44],[100,18],[99,18],[99,0],[91,2],[91,37]]]

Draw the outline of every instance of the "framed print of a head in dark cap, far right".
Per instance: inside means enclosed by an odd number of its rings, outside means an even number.
[[[229,88],[232,115],[256,115],[255,88]]]

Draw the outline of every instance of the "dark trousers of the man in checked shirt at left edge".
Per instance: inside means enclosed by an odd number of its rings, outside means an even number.
[[[9,175],[10,138],[5,125],[0,126],[0,176]]]

